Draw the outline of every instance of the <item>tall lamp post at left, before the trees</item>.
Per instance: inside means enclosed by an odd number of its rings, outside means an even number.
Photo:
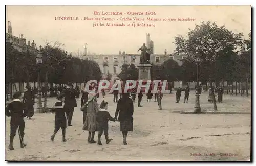
[[[36,64],[40,65],[42,63],[42,54],[40,51],[37,52],[36,55]],[[37,113],[42,113],[42,93],[41,93],[41,84],[40,84],[40,66],[38,67],[38,101],[37,101],[37,108],[36,112]]]

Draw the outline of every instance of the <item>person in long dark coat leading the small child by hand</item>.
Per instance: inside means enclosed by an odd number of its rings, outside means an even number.
[[[133,131],[133,100],[129,98],[129,93],[123,93],[122,98],[118,100],[115,120],[120,122],[120,131],[123,134],[123,144],[127,145],[127,134],[128,131]]]

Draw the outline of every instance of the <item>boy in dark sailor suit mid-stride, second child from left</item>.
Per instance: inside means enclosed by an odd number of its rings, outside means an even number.
[[[65,116],[65,94],[59,94],[57,97],[58,101],[53,106],[53,111],[55,112],[55,129],[54,133],[51,136],[51,141],[54,140],[55,135],[59,131],[59,128],[62,130],[62,141],[66,142],[66,128],[67,128],[67,118]]]

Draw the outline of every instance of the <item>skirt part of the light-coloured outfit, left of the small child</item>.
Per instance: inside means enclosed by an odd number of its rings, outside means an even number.
[[[96,115],[87,113],[86,121],[83,124],[82,130],[87,130],[90,132],[99,131]]]

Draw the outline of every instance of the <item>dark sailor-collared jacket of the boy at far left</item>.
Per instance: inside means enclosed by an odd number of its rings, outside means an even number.
[[[27,116],[27,109],[19,99],[14,99],[6,107],[6,116],[11,117],[11,122],[19,123]]]

